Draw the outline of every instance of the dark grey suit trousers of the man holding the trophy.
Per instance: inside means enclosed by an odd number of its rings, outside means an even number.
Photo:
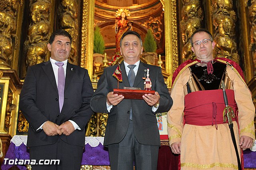
[[[140,144],[134,134],[132,120],[124,139],[108,145],[111,170],[156,170],[159,146]]]

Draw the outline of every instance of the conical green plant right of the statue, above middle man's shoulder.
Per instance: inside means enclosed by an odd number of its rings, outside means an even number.
[[[156,49],[157,49],[156,40],[151,30],[148,30],[146,34],[146,37],[143,43],[143,49],[145,52],[152,52],[152,53],[156,52]]]

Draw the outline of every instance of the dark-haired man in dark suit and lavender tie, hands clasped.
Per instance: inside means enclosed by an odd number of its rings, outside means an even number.
[[[71,42],[68,32],[53,32],[50,60],[28,67],[20,93],[30,159],[38,164],[40,159],[60,160],[59,165],[32,165],[33,170],[80,170],[93,89],[88,71],[68,62]]]

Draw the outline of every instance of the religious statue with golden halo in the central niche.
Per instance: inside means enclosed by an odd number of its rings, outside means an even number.
[[[121,8],[116,11],[116,55],[120,54],[120,40],[122,35],[128,30],[132,30],[132,22],[127,20],[127,16],[130,16],[130,12],[127,9]]]

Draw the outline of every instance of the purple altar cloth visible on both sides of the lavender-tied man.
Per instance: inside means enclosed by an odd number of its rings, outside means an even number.
[[[29,152],[25,144],[22,143],[20,146],[15,146],[15,144],[11,142],[4,158],[8,158],[9,160],[29,160]],[[1,166],[2,170],[8,170],[14,166],[14,164],[8,164],[8,160],[6,160],[6,163],[7,164],[4,164],[3,162]],[[90,144],[86,144],[81,165],[110,165],[108,150],[106,150],[106,148],[104,148],[101,143],[96,147],[92,147]],[[25,166],[16,166],[20,170],[26,170]]]

